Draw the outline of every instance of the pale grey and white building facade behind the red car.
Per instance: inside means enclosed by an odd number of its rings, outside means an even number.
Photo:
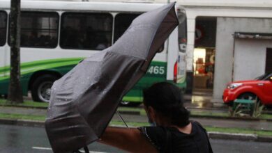
[[[188,17],[187,71],[193,72],[194,77],[197,75],[195,49],[215,50],[213,102],[222,102],[222,92],[230,81],[254,79],[269,71],[272,1],[184,0],[178,3],[186,9]],[[216,26],[209,24],[212,20]],[[239,33],[244,37],[237,36]],[[208,39],[210,43],[197,45],[199,39]]]

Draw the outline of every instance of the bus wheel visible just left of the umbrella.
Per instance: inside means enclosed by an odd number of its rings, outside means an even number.
[[[51,87],[56,79],[58,79],[56,76],[46,74],[38,77],[35,81],[33,81],[31,88],[31,95],[33,101],[49,102]]]

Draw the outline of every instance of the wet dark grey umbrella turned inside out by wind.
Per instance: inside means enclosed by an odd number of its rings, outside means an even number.
[[[112,47],[54,82],[45,121],[54,152],[72,152],[98,140],[123,95],[178,24],[174,3],[139,15]]]

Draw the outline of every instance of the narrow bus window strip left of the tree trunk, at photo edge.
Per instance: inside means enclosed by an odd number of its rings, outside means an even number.
[[[6,44],[6,12],[0,11],[0,46]]]

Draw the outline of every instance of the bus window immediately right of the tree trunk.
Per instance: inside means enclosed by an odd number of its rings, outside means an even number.
[[[56,47],[58,25],[57,13],[22,12],[21,47]]]

